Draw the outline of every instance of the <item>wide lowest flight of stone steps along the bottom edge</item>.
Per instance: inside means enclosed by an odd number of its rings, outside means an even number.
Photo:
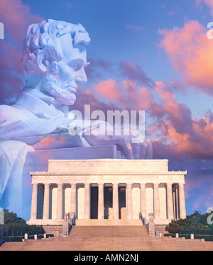
[[[6,242],[0,251],[212,251],[213,242],[164,237],[52,238]]]

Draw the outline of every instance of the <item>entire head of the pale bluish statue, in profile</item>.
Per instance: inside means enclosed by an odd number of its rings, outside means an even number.
[[[48,19],[29,26],[22,57],[26,86],[52,96],[58,105],[74,104],[77,84],[87,82],[89,43],[80,24]]]

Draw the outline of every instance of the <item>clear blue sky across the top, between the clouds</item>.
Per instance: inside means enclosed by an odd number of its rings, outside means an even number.
[[[154,81],[180,79],[159,48],[158,30],[182,27],[190,20],[207,26],[212,18],[208,6],[199,6],[194,0],[23,0],[23,4],[45,19],[82,24],[92,38],[87,48],[89,57],[107,58],[113,63],[133,61]],[[195,117],[202,117],[207,105],[212,109],[212,99],[207,95],[195,95],[190,89],[185,93],[176,96],[190,106]]]

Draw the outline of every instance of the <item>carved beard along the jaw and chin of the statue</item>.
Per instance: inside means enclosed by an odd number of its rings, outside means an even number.
[[[42,90],[55,98],[58,105],[73,105],[76,95],[69,88],[61,88],[57,85],[57,79],[53,76],[45,76],[42,80]]]

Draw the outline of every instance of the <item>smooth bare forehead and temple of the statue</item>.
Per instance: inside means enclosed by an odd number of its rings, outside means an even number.
[[[60,37],[62,59],[65,61],[82,59],[85,61],[87,58],[86,48],[82,45],[73,46],[72,41],[72,37],[69,33]]]

